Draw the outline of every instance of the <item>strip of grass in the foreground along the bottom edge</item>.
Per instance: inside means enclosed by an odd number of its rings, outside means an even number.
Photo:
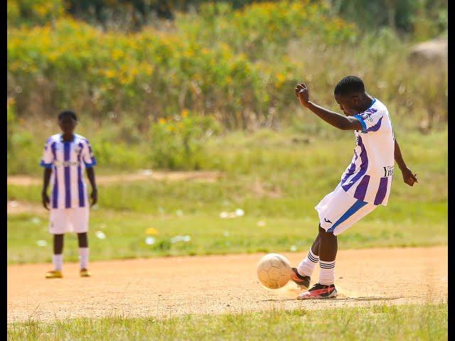
[[[447,340],[447,303],[326,310],[80,318],[8,325],[8,340]],[[330,321],[328,323],[327,321]]]

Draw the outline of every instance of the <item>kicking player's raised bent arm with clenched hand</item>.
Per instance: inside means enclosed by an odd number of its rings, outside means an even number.
[[[317,116],[321,117],[324,121],[332,126],[341,130],[362,130],[362,124],[355,117],[346,117],[336,112],[332,112],[326,108],[320,107],[317,104],[309,101],[309,90],[300,83],[296,86],[296,97],[299,98],[299,102],[304,107],[314,112]]]

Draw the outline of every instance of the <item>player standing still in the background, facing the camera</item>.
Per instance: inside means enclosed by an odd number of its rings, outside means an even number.
[[[40,165],[44,167],[43,205],[50,206],[49,232],[54,235],[53,271],[45,278],[62,278],[63,234],[76,232],[79,242],[80,276],[90,277],[88,266],[88,216],[89,202],[84,170],[92,185],[92,202],[97,202],[97,185],[95,182],[96,164],[92,147],[85,137],[74,134],[77,117],[74,112],[64,111],[58,115],[58,125],[62,134],[50,136],[44,146]],[[52,191],[48,197],[48,185]]]

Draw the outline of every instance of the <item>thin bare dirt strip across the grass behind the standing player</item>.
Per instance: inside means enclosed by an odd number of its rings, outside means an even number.
[[[195,180],[212,183],[223,174],[217,171],[190,171],[190,172],[163,172],[144,170],[132,174],[97,175],[97,183],[109,185],[112,183],[124,183],[139,180],[168,180],[183,181]],[[41,185],[43,180],[28,175],[10,175],[6,181],[7,185],[28,186]]]

